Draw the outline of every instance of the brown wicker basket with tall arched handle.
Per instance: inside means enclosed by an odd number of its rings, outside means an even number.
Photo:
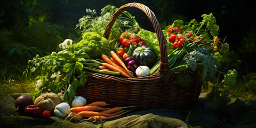
[[[161,61],[155,75],[136,78],[111,76],[88,72],[87,83],[78,87],[76,95],[81,95],[87,102],[106,101],[113,107],[137,106],[136,110],[149,108],[170,108],[184,110],[194,107],[201,92],[198,73],[174,73],[167,60],[166,42],[155,14],[145,5],[139,3],[125,4],[113,14],[106,28],[104,37],[108,39],[111,27],[117,17],[130,7],[145,12],[153,24],[157,34]],[[184,89],[175,82],[179,75],[189,74],[193,83]]]

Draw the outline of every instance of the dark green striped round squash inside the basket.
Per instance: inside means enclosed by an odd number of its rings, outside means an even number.
[[[157,60],[157,54],[155,50],[147,45],[137,47],[132,52],[133,59],[138,63],[139,66],[153,67]]]

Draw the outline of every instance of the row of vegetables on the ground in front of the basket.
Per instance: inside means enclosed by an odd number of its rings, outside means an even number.
[[[84,97],[77,96],[69,105],[67,102],[62,102],[61,98],[55,93],[47,93],[40,95],[33,102],[29,95],[20,95],[15,100],[15,112],[22,116],[33,118],[49,119],[52,115],[68,119],[69,121],[106,121],[119,117],[130,110],[128,107],[106,107],[108,104],[105,101],[96,101],[87,104]]]

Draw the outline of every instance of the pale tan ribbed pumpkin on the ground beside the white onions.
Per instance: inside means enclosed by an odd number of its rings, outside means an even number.
[[[51,114],[53,114],[55,106],[61,102],[62,100],[57,94],[50,92],[37,97],[34,101],[34,105],[41,108],[42,111],[49,110]]]

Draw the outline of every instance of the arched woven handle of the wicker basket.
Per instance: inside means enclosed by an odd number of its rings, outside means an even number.
[[[155,33],[157,35],[158,42],[159,42],[160,54],[161,54],[160,55],[161,60],[160,60],[160,65],[158,70],[170,71],[170,68],[169,68],[170,64],[167,59],[167,48],[166,48],[166,42],[165,42],[163,31],[159,25],[158,20],[156,19],[155,14],[147,6],[140,3],[128,3],[119,7],[119,9],[116,10],[116,12],[113,14],[111,19],[109,20],[103,37],[108,39],[110,30],[113,27],[117,17],[121,15],[125,10],[129,9],[130,7],[133,7],[135,9],[140,9],[141,11],[145,12],[149,20],[152,22]]]

